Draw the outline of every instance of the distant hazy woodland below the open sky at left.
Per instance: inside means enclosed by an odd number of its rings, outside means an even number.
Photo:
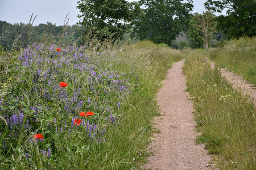
[[[47,40],[54,43],[62,37],[64,42],[79,41],[80,36],[81,29],[77,25],[56,26],[52,23],[46,23],[33,26],[32,24],[10,24],[0,21],[0,44],[6,49],[19,49],[33,42],[45,42]]]

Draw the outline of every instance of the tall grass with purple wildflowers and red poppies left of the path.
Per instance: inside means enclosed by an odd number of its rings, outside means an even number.
[[[183,55],[150,41],[93,43],[1,52],[1,169],[135,169],[145,161],[155,93]]]

